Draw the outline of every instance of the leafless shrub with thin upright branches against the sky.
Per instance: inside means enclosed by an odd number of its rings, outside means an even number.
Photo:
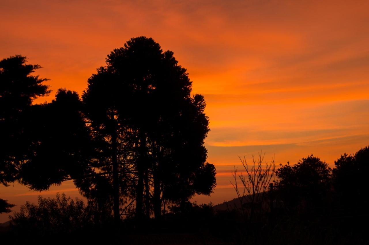
[[[265,153],[258,153],[258,158],[252,155],[252,164],[246,162],[246,156],[239,157],[245,170],[245,175],[238,173],[234,167],[232,172],[234,182],[230,181],[237,192],[240,207],[236,207],[244,214],[245,219],[257,220],[270,207],[268,190],[270,181],[275,175],[274,157],[268,163],[264,161]],[[239,181],[241,183],[239,184]]]

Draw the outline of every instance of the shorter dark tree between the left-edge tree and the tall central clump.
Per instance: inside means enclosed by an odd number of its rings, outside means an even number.
[[[96,154],[81,106],[78,94],[66,89],[59,89],[51,103],[32,106],[25,126],[30,151],[20,167],[23,184],[41,191],[72,179],[83,188],[94,173],[91,159]]]

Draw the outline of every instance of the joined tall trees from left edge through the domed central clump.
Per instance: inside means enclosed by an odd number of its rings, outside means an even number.
[[[190,95],[177,63],[153,39],[132,38],[107,56],[81,98],[59,89],[52,102],[32,104],[50,92],[48,79],[32,75],[41,67],[20,55],[1,60],[1,183],[41,191],[73,180],[116,223],[160,220],[166,206],[210,195],[206,104]]]

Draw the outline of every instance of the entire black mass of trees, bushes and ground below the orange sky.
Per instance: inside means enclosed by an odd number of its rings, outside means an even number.
[[[197,205],[215,188],[202,95],[173,52],[132,38],[80,97],[50,91],[23,56],[0,61],[0,183],[41,191],[71,180],[86,197],[39,197],[0,227],[6,244],[367,244],[369,148],[333,169],[313,155],[276,168],[259,154],[234,170],[238,198]],[[0,199],[0,212],[13,205]]]

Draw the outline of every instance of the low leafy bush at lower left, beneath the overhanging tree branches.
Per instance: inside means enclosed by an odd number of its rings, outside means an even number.
[[[101,213],[94,205],[85,205],[83,200],[57,193],[56,198],[38,196],[38,205],[26,202],[10,219],[15,234],[48,236],[87,231],[101,226],[110,216]]]

